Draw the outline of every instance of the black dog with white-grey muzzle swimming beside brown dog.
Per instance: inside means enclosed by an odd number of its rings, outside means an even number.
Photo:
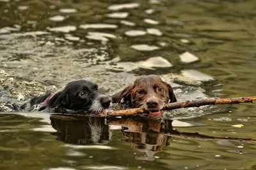
[[[21,108],[34,107],[38,111],[58,108],[98,114],[107,109],[110,102],[111,100],[106,95],[99,94],[97,84],[86,80],[79,80],[69,82],[65,87],[54,93],[54,95],[47,94],[32,98],[30,102],[22,105]]]

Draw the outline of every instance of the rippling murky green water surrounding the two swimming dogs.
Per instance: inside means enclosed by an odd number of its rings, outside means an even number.
[[[0,0],[1,169],[256,169],[255,144],[225,139],[256,139],[254,104],[165,121],[13,112],[76,79],[111,95],[150,73],[179,101],[255,95],[255,19],[253,0]]]

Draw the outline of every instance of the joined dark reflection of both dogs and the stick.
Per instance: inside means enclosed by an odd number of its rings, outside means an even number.
[[[171,137],[202,141],[236,141],[256,144],[254,139],[214,137],[198,133],[179,132],[172,127],[172,120],[150,120],[144,117],[100,118],[52,114],[51,125],[58,141],[70,144],[107,144],[111,140],[111,125],[122,127],[122,139],[131,148],[145,152],[138,160],[154,160],[154,154],[169,146]]]

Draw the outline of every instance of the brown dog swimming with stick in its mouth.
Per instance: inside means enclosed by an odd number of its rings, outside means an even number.
[[[129,107],[143,107],[146,111],[159,111],[164,104],[177,102],[172,86],[157,75],[142,75],[133,86],[112,96],[113,103],[127,103]]]

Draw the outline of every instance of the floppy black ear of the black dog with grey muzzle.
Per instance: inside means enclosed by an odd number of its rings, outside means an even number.
[[[50,98],[47,102],[47,105],[51,108],[54,107],[65,107],[67,108],[69,105],[69,98],[67,91],[60,91]]]

